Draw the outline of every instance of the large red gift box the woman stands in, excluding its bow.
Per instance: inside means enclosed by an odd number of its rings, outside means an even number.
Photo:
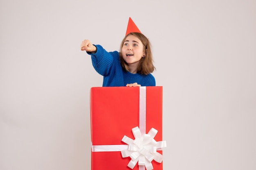
[[[141,113],[143,110],[145,116]],[[90,118],[91,169],[131,170],[127,166],[131,158],[121,154],[121,150],[128,148],[122,139],[124,135],[135,139],[132,129],[138,126],[142,135],[151,128],[156,129],[158,132],[153,139],[162,141],[162,86],[92,87]],[[157,150],[157,153],[162,154],[162,150]],[[163,169],[162,161],[153,160],[151,163],[154,170]],[[145,170],[145,166],[138,163],[133,168],[142,169]]]

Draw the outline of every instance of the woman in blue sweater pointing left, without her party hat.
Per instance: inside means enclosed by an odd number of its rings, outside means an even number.
[[[107,52],[102,46],[85,39],[81,50],[91,55],[94,69],[103,76],[103,87],[155,86],[150,42],[142,33],[128,33],[120,52]]]

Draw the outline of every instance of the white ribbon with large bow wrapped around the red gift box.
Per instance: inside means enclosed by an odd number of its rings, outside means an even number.
[[[151,161],[161,163],[163,156],[157,152],[166,147],[166,141],[156,142],[157,130],[152,128],[146,134],[146,86],[139,87],[139,127],[132,129],[135,139],[124,135],[122,141],[128,145],[92,145],[92,152],[121,151],[122,157],[130,157],[128,167],[133,169],[138,162],[139,170],[153,170]]]

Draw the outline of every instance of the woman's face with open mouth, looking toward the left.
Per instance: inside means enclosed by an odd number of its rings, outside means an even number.
[[[137,66],[141,57],[146,55],[142,42],[134,35],[126,37],[121,54],[128,66]]]

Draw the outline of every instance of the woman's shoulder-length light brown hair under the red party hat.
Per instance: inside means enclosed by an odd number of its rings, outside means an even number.
[[[155,66],[153,65],[153,57],[152,57],[152,52],[151,52],[151,48],[150,48],[151,44],[150,44],[150,41],[148,40],[148,38],[141,33],[129,33],[128,35],[126,35],[124,37],[123,41],[121,42],[119,58],[121,61],[122,68],[125,69],[126,71],[130,71],[128,68],[128,64],[126,63],[126,61],[124,61],[122,54],[121,54],[121,50],[124,45],[124,41],[126,40],[126,37],[128,37],[129,35],[134,35],[142,42],[143,50],[146,54],[146,56],[142,57],[139,61],[137,73],[139,73],[139,74],[152,73],[155,70]]]

